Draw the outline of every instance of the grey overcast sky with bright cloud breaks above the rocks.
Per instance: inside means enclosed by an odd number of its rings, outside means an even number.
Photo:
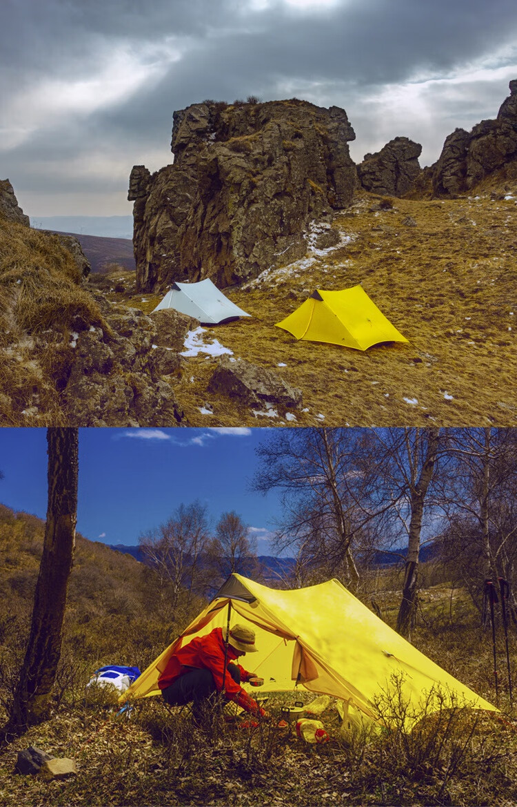
[[[1,0],[0,178],[38,215],[127,215],[205,98],[343,107],[354,161],[402,135],[437,159],[517,78],[515,0]]]

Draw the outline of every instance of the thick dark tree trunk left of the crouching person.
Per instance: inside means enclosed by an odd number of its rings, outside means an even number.
[[[78,429],[48,429],[48,510],[31,633],[3,738],[48,717],[77,521]]]

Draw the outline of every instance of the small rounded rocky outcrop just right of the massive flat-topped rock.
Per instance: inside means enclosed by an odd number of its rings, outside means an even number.
[[[402,196],[412,190],[420,174],[420,143],[407,137],[395,137],[374,154],[365,154],[358,165],[358,177],[365,190],[377,194]]]

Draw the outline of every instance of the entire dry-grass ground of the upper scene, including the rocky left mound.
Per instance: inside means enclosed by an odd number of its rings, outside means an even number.
[[[516,165],[457,199],[357,191],[327,225],[337,245],[316,249],[313,230],[303,259],[227,291],[251,316],[205,328],[205,344],[300,389],[290,412],[209,393],[219,358],[202,349],[163,375],[143,316],[162,295],[122,269],[84,282],[57,236],[0,220],[0,424],[517,424]],[[357,284],[407,343],[362,352],[275,328],[315,289]]]

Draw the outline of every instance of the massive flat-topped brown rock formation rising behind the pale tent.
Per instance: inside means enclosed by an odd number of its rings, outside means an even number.
[[[139,290],[221,288],[302,257],[309,222],[352,199],[354,137],[344,110],[297,99],[175,112],[174,164],[130,176]]]

